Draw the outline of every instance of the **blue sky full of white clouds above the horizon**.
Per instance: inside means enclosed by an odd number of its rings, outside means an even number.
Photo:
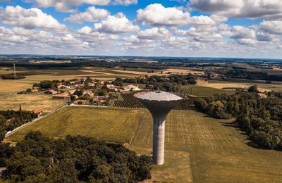
[[[282,57],[280,0],[0,0],[0,53]]]

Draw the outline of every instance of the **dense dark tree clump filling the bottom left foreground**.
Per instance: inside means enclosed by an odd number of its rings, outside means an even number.
[[[90,137],[29,132],[15,147],[0,144],[0,167],[8,182],[140,182],[151,177],[152,159]]]

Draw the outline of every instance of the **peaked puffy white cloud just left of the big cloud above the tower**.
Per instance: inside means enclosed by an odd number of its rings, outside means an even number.
[[[123,34],[137,32],[139,27],[133,25],[123,13],[118,13],[117,15],[109,15],[105,20],[102,20],[101,23],[95,23],[94,29],[99,32]]]

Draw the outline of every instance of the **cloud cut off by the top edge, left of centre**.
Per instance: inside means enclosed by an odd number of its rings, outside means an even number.
[[[74,13],[75,9],[73,9],[73,5],[108,5],[110,2],[111,0],[36,0],[35,5],[44,8],[54,6],[56,8],[56,11]]]

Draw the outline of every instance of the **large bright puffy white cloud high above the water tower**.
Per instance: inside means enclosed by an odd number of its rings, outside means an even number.
[[[187,25],[190,20],[190,13],[161,4],[150,4],[145,9],[137,11],[137,21],[145,25]]]

